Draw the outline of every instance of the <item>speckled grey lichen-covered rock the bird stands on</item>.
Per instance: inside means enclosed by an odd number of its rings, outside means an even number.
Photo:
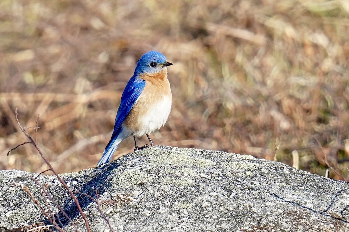
[[[0,171],[0,232],[56,213],[67,231],[86,225],[54,176]],[[73,191],[98,199],[113,231],[349,231],[349,184],[278,162],[218,151],[155,146],[98,168],[61,175]],[[39,185],[49,193],[43,196]],[[97,204],[76,193],[91,231],[110,231]]]

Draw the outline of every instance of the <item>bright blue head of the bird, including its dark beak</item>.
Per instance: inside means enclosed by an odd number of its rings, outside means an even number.
[[[166,61],[166,57],[159,53],[158,51],[148,51],[143,54],[139,61],[137,62],[136,69],[134,74],[149,74],[153,75],[159,73],[163,69],[166,69],[166,66],[172,65],[170,62]]]

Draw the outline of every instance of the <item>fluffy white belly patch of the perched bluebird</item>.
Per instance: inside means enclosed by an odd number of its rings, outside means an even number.
[[[152,104],[149,110],[138,119],[140,128],[134,132],[134,135],[140,137],[162,127],[169,118],[171,103],[171,97],[164,96],[157,104]]]

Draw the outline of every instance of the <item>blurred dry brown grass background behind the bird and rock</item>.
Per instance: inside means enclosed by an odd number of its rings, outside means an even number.
[[[136,62],[158,50],[174,63],[173,104],[154,144],[348,181],[348,16],[349,0],[2,0],[0,169],[47,169],[29,145],[6,157],[26,141],[15,107],[28,127],[40,115],[58,172],[95,166]]]

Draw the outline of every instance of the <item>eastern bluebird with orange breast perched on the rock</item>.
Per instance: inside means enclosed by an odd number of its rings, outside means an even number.
[[[147,135],[153,146],[149,133],[162,127],[171,111],[172,94],[166,67],[169,65],[172,64],[157,51],[149,51],[139,59],[122,93],[113,134],[97,166],[109,162],[120,143],[130,135],[136,150],[148,145],[138,147],[135,136]]]

